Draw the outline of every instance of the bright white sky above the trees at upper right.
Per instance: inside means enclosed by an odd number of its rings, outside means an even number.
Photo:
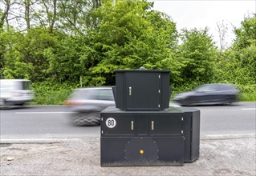
[[[154,10],[169,14],[177,24],[177,30],[183,28],[205,29],[213,35],[218,44],[217,22],[224,21],[228,27],[226,42],[230,45],[234,39],[234,26],[240,27],[244,17],[256,13],[256,0],[148,0],[154,3]]]

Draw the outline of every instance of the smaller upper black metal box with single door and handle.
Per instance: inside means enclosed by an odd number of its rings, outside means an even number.
[[[116,108],[164,110],[171,91],[169,70],[116,70]]]

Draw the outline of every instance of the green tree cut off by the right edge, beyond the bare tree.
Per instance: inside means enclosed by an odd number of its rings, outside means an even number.
[[[222,52],[214,62],[214,82],[229,82],[246,93],[253,93],[256,87],[256,26],[255,14],[245,18],[234,30],[233,46]]]

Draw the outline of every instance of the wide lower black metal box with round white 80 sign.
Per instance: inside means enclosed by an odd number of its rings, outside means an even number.
[[[101,113],[101,166],[181,166],[199,158],[200,111],[170,107],[161,111]]]

